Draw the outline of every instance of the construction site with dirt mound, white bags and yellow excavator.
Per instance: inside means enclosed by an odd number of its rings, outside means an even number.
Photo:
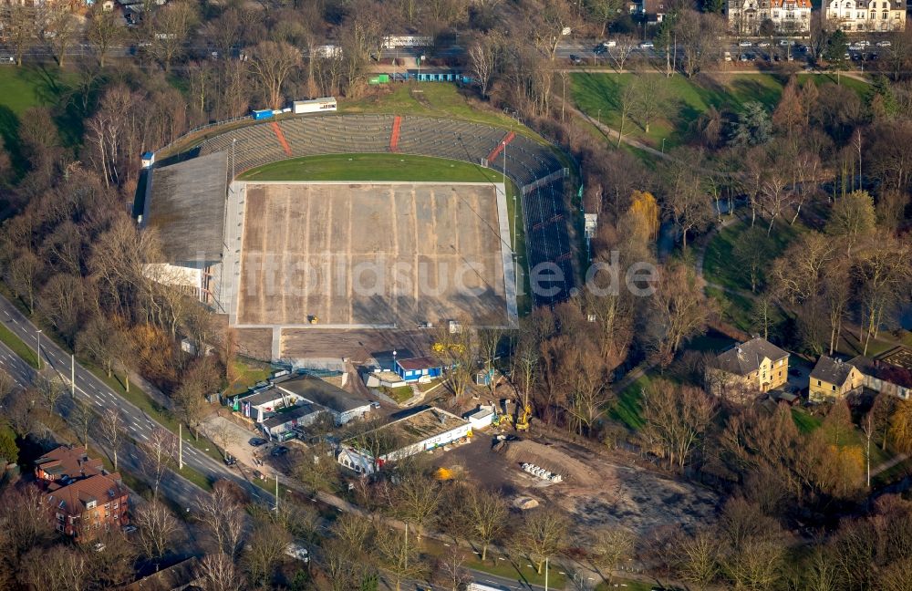
[[[435,465],[463,472],[501,493],[517,510],[560,508],[581,532],[623,525],[645,533],[663,525],[689,528],[712,521],[720,498],[709,489],[673,479],[633,456],[625,465],[550,433],[544,436],[535,423],[523,423],[527,416],[521,405],[500,406],[505,411],[495,415],[496,425],[475,431],[470,444],[454,448]]]

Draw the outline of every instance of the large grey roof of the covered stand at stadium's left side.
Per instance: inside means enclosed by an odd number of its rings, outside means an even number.
[[[222,258],[226,152],[216,152],[152,171],[145,226],[156,228],[169,263]]]

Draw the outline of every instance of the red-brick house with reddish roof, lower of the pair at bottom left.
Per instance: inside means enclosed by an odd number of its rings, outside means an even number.
[[[41,501],[57,531],[88,542],[130,523],[128,493],[119,474],[95,474],[77,481],[51,482]]]

